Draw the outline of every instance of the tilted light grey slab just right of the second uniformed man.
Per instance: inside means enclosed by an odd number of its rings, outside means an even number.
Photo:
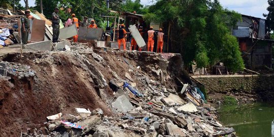
[[[74,24],[69,27],[61,28],[59,38],[60,39],[68,39],[68,38],[74,37],[76,35],[78,35],[78,30],[77,30],[76,25]]]

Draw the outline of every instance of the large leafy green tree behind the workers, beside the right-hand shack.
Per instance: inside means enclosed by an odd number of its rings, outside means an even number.
[[[241,15],[223,9],[219,1],[160,0],[148,12],[146,20],[170,25],[171,51],[181,53],[185,64],[194,60],[198,67],[207,67],[222,61],[233,72],[244,67],[237,40],[228,28]]]

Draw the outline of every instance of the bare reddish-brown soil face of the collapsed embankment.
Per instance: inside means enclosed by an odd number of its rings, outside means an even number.
[[[115,115],[111,110],[113,91],[109,86],[99,89],[97,79],[92,78],[94,76],[91,76],[84,60],[88,60],[101,72],[107,83],[117,76],[119,79],[125,79],[125,72],[131,68],[123,57],[127,58],[134,68],[141,66],[148,76],[155,75],[151,72],[153,67],[150,64],[158,64],[161,68],[169,67],[168,62],[159,61],[159,54],[145,58],[147,53],[141,52],[95,52],[104,59],[100,60],[100,57],[95,57],[92,53],[59,51],[23,53],[23,57],[20,57],[19,53],[3,56],[3,61],[29,65],[30,69],[36,72],[36,76],[23,79],[10,76],[9,80],[0,77],[1,136],[20,136],[21,131],[32,132],[35,128],[43,128],[47,116],[60,112],[75,114],[75,108],[89,108],[91,111],[100,108],[105,115]],[[176,70],[175,67],[169,69]],[[98,74],[95,75],[97,77]],[[132,78],[136,79],[135,76]],[[138,81],[136,84],[139,85]],[[163,84],[170,89],[177,87],[171,79]]]

